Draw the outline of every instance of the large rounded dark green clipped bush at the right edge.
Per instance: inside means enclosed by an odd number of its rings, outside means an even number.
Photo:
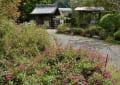
[[[100,26],[108,32],[116,32],[120,27],[120,14],[106,14],[101,18]]]

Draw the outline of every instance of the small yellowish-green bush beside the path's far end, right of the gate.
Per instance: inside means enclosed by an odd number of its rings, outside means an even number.
[[[65,33],[70,31],[70,24],[60,24],[57,28],[57,33]]]

